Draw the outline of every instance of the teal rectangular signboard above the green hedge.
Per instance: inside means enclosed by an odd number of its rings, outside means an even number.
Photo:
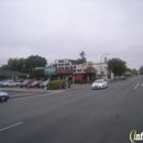
[[[44,68],[44,75],[57,75],[56,66],[47,66]]]

